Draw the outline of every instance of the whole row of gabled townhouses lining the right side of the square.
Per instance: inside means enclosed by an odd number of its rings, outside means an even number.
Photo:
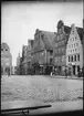
[[[36,67],[33,70],[34,65]],[[84,67],[83,29],[72,24],[57,22],[57,32],[35,30],[34,40],[29,40],[22,48],[22,56],[18,57],[20,74],[43,73],[65,75],[65,71],[76,75]],[[32,73],[31,72],[31,73]]]

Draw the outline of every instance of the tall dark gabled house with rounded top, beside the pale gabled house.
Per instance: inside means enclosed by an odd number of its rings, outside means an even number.
[[[54,39],[54,66],[56,74],[65,74],[66,68],[66,44],[71,28],[64,25],[63,21],[57,22],[57,33]]]

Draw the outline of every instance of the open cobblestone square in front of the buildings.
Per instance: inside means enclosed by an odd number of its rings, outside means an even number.
[[[1,102],[39,99],[53,103],[80,98],[83,98],[83,81],[13,75],[1,78]]]

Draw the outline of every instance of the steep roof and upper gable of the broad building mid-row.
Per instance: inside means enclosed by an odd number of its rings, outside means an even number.
[[[53,49],[53,43],[54,43],[54,38],[56,32],[49,32],[49,31],[43,31],[43,30],[38,30],[38,33],[34,35],[40,34],[41,38],[34,40],[34,45],[33,45],[33,52],[41,51],[41,50],[52,50]]]

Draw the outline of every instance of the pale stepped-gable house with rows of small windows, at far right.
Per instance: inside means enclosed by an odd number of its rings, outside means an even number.
[[[83,68],[83,29],[71,25],[71,33],[66,46],[66,65],[77,75]]]

